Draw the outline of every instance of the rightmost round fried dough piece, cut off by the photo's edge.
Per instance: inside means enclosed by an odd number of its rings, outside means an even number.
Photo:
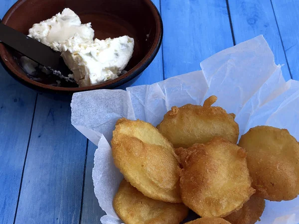
[[[257,196],[280,202],[299,194],[299,143],[287,129],[257,126],[239,145],[247,151],[247,164]]]

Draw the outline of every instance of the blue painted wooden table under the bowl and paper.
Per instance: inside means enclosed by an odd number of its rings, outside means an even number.
[[[0,0],[0,17],[15,0]],[[163,43],[135,85],[200,70],[212,54],[263,34],[299,80],[299,0],[154,0]],[[24,18],[25,19],[25,18]],[[241,74],[240,74],[241,75]],[[96,146],[70,121],[70,103],[37,94],[0,67],[0,224],[98,224]]]

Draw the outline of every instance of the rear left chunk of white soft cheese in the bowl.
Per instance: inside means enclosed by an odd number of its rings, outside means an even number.
[[[79,16],[65,8],[52,18],[34,24],[28,36],[62,52],[67,50],[66,45],[93,42],[94,30],[91,23],[81,24]]]

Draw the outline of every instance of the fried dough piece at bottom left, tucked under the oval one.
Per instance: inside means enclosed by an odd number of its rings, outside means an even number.
[[[183,204],[150,199],[126,180],[120,184],[113,208],[126,224],[179,224],[188,215]]]

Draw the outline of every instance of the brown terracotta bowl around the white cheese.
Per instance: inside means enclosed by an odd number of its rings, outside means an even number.
[[[127,73],[115,80],[90,87],[57,87],[30,79],[19,65],[20,54],[0,43],[0,59],[8,73],[22,84],[42,92],[74,93],[130,86],[149,66],[162,41],[161,16],[150,0],[18,0],[4,15],[2,23],[28,34],[34,23],[51,18],[64,8],[77,13],[82,23],[91,22],[95,38],[129,35],[135,39]]]

